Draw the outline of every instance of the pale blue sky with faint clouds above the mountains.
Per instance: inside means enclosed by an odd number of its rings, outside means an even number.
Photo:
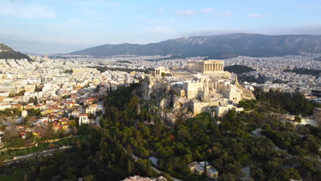
[[[23,52],[231,33],[321,34],[321,0],[0,0],[0,42]]]

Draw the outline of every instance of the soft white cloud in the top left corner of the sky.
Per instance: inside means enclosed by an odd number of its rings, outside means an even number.
[[[4,16],[15,16],[24,19],[55,18],[56,13],[47,6],[26,5],[19,1],[3,1],[0,3],[0,14]]]

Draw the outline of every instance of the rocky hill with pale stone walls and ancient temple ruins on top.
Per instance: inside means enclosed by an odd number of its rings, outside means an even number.
[[[237,76],[224,71],[224,61],[187,61],[186,68],[158,67],[135,91],[141,104],[159,109],[165,121],[194,117],[208,112],[222,117],[228,110],[241,111],[242,99],[255,99],[250,90],[239,86]]]

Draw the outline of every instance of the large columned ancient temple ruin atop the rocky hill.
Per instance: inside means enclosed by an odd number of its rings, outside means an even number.
[[[224,71],[224,61],[222,60],[187,60],[187,71],[196,71],[201,73],[220,73]]]

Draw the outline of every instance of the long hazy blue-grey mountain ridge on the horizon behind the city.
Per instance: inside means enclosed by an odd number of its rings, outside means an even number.
[[[106,44],[68,54],[90,56],[180,54],[183,56],[230,58],[235,56],[285,56],[302,52],[321,53],[321,35],[225,34],[191,36],[147,45]]]

